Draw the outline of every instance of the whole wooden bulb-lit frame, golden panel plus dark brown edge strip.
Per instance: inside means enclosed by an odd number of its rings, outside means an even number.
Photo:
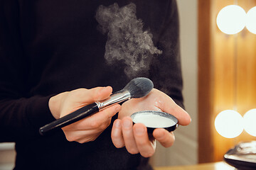
[[[256,35],[244,28],[235,35],[216,25],[218,12],[237,3],[247,12],[256,0],[198,0],[198,162],[219,162],[238,142],[255,140],[247,134],[222,137],[214,127],[224,110],[244,115],[256,108]],[[227,120],[228,121],[228,120]]]

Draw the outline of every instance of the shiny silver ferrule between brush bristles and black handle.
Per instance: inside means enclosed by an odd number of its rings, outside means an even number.
[[[122,101],[127,101],[131,98],[129,91],[122,91],[117,94],[112,94],[109,98],[104,101],[96,101],[97,107],[99,110],[112,106],[113,104],[121,103]]]

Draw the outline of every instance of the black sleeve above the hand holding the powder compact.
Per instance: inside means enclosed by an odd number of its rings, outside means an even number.
[[[154,57],[151,65],[151,79],[156,89],[168,94],[183,107],[183,81],[181,74],[181,57],[179,46],[178,8],[175,0],[163,6],[161,15],[164,20],[157,28],[159,37],[155,42],[163,54]]]

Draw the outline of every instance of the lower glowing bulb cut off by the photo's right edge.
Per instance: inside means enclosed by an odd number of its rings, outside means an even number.
[[[256,108],[247,111],[243,118],[245,131],[256,137]]]

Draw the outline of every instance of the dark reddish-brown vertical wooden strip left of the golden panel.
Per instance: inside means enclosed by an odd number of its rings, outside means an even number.
[[[213,162],[211,1],[198,0],[198,163]]]

